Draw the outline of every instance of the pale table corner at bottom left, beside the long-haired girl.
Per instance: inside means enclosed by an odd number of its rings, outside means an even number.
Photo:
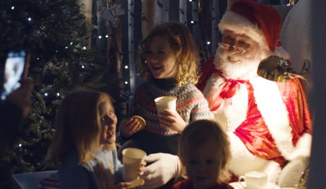
[[[35,173],[21,173],[12,175],[12,188],[13,189],[37,189],[39,182],[53,173],[58,171],[43,171]]]

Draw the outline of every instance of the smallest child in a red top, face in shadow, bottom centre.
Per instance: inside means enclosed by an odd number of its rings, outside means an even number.
[[[231,189],[222,182],[227,179],[226,165],[230,144],[220,126],[209,120],[189,124],[179,141],[179,157],[188,179],[177,182],[172,189]]]

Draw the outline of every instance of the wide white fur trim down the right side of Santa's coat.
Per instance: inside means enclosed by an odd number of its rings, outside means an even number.
[[[293,160],[299,156],[309,156],[310,134],[304,134],[298,140],[296,146],[292,144],[292,128],[277,84],[262,77],[254,77],[250,80],[250,83],[254,89],[258,110],[275,140],[276,146],[285,159]]]

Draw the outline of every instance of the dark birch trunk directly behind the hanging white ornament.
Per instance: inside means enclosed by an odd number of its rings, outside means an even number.
[[[112,0],[113,4],[121,4],[122,0]],[[107,65],[110,73],[117,73],[122,78],[121,73],[121,22],[114,28],[108,21],[106,22],[106,30],[108,34],[112,33],[112,37],[107,38]]]

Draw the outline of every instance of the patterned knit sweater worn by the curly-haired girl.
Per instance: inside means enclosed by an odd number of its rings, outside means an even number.
[[[131,137],[138,143],[133,147],[141,148],[147,154],[157,152],[177,154],[179,134],[159,124],[154,99],[160,96],[177,97],[176,111],[186,125],[193,120],[211,120],[213,117],[207,100],[193,84],[175,87],[171,79],[155,79],[141,84],[136,89],[130,115],[143,117],[146,126]]]

